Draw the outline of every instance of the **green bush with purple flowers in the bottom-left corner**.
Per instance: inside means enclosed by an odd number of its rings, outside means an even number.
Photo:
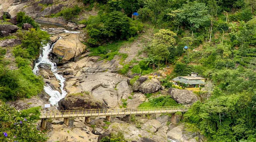
[[[13,141],[23,141],[23,142],[43,142],[46,141],[46,134],[41,133],[36,129],[35,120],[40,115],[40,112],[34,111],[34,108],[29,110],[23,110],[20,113],[13,107],[8,105],[0,105],[0,131],[7,133],[7,137],[1,133],[1,142],[13,142]],[[36,109],[35,109],[36,110]],[[35,112],[35,113],[34,113]],[[32,116],[32,118],[24,116]],[[20,123],[21,122],[21,123]]]

